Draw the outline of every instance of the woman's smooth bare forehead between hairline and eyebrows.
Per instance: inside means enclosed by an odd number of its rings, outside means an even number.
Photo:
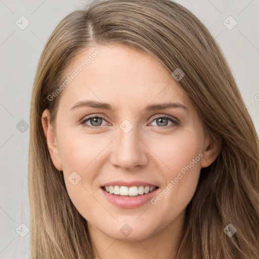
[[[116,102],[127,108],[152,101],[189,102],[159,61],[131,47],[96,46],[81,51],[68,65],[65,77],[73,73],[76,75],[70,78],[61,98],[68,106],[83,99]]]

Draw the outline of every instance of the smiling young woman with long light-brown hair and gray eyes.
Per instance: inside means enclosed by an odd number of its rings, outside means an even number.
[[[65,17],[31,103],[32,258],[258,258],[258,138],[219,46],[168,0]]]

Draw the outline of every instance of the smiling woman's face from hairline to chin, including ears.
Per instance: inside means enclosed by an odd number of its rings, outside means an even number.
[[[179,83],[150,55],[120,45],[85,51],[67,76],[74,78],[62,92],[56,132],[44,127],[82,217],[114,239],[141,240],[181,226],[201,167],[218,153]],[[154,106],[166,103],[173,104]]]

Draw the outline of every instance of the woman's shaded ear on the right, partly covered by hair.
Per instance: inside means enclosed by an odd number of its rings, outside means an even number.
[[[212,138],[208,134],[205,136],[203,146],[203,157],[201,159],[201,167],[207,167],[212,164],[221,152],[221,139]]]

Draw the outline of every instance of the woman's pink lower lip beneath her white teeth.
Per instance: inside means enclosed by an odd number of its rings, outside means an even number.
[[[147,194],[142,194],[138,196],[117,196],[114,194],[110,194],[100,188],[105,196],[105,198],[111,202],[112,204],[121,207],[121,208],[137,208],[144,203],[148,202],[151,200],[158,192],[159,188],[155,189],[154,191],[147,193]]]

